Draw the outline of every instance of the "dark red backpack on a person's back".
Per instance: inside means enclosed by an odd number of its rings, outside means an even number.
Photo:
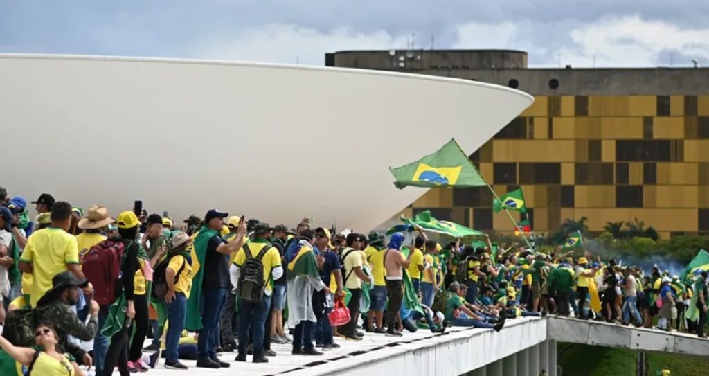
[[[86,280],[94,285],[94,300],[110,305],[123,293],[121,266],[125,244],[121,240],[106,239],[94,245],[84,256],[82,271]]]

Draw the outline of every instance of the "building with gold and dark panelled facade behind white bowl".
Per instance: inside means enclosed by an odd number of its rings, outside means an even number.
[[[325,62],[472,79],[535,96],[470,155],[496,194],[522,187],[535,232],[585,216],[596,233],[636,219],[662,238],[709,233],[709,69],[528,69],[526,52],[490,50],[346,51]],[[430,189],[403,214],[430,209],[439,219],[511,233],[492,199],[487,187]]]

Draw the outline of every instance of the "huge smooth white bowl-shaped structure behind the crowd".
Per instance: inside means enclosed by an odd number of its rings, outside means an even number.
[[[389,166],[452,137],[471,153],[532,103],[460,79],[122,57],[0,55],[0,83],[11,195],[359,231],[425,192]]]

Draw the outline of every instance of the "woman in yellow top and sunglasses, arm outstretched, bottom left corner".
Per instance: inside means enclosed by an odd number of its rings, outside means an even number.
[[[35,330],[35,343],[44,350],[15,346],[0,336],[0,348],[17,363],[28,366],[30,376],[85,376],[76,362],[57,352],[57,332],[47,324]]]

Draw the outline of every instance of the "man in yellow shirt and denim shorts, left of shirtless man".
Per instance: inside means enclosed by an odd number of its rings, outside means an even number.
[[[367,331],[385,333],[384,330],[384,305],[386,305],[386,269],[384,268],[384,238],[378,233],[369,233],[369,246],[364,249],[367,262],[372,265],[374,287],[369,290],[369,313],[367,314]],[[374,321],[376,320],[376,328]]]

